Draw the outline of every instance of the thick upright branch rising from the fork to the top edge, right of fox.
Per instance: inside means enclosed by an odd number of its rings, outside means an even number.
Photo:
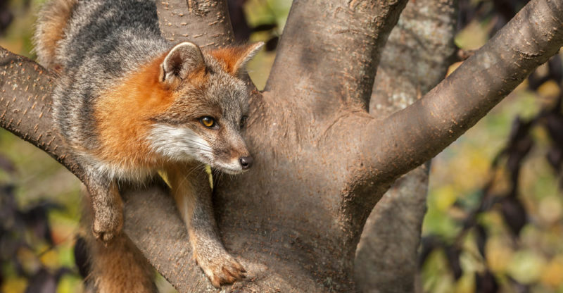
[[[367,110],[381,50],[407,1],[294,1],[266,91],[304,101],[316,119]]]

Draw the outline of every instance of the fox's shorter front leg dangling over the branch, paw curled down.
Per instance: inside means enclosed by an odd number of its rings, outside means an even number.
[[[123,227],[123,201],[114,180],[91,173],[87,182],[93,210],[92,232],[104,243],[120,235]]]

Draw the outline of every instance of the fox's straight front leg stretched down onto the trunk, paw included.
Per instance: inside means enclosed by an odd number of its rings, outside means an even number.
[[[194,170],[196,168],[197,170]],[[196,166],[168,166],[172,195],[186,223],[194,259],[215,287],[244,278],[246,270],[224,249],[213,217],[208,175]]]

